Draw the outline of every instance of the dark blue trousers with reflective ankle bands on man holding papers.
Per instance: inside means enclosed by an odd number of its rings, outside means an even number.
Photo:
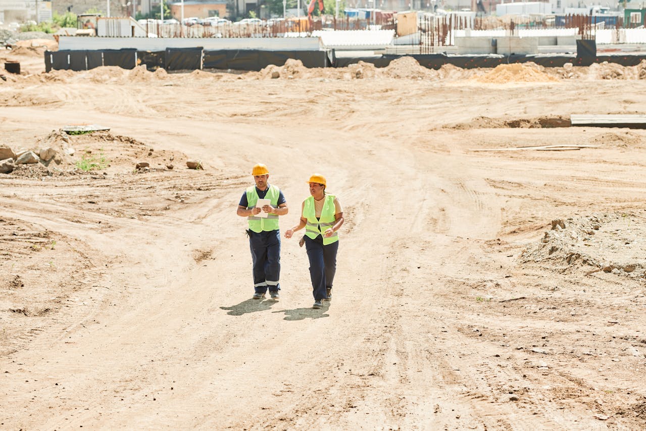
[[[249,231],[249,248],[256,292],[280,290],[280,231]]]

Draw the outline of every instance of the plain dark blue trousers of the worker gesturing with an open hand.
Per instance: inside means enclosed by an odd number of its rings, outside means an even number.
[[[327,288],[332,288],[334,275],[337,272],[337,251],[339,241],[323,245],[323,238],[316,239],[305,236],[305,248],[309,258],[309,277],[312,279],[312,293],[315,300],[328,297]]]

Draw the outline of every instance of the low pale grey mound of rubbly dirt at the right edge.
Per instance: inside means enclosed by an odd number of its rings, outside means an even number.
[[[552,220],[551,229],[521,253],[520,261],[561,272],[583,269],[643,279],[646,210]]]

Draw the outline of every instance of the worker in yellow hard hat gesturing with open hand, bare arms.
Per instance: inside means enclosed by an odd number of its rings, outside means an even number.
[[[321,308],[322,301],[332,299],[332,282],[337,272],[339,233],[343,224],[343,209],[339,198],[325,191],[327,182],[321,174],[313,174],[307,181],[309,196],[303,201],[298,225],[287,229],[289,239],[305,227],[305,247],[309,258],[309,276],[314,295],[313,308]]]

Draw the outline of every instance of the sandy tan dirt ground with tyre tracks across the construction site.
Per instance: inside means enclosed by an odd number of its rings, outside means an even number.
[[[0,145],[74,154],[0,174],[0,428],[646,428],[646,131],[561,127],[646,110],[614,66],[7,76]],[[322,310],[296,239],[251,299],[256,162],[344,206]]]

